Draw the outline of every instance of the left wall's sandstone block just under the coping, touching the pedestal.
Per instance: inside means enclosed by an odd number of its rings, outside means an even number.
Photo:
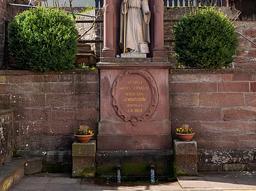
[[[63,82],[76,82],[76,81],[98,81],[98,75],[97,74],[88,74],[88,75],[60,75],[58,78],[59,81]]]

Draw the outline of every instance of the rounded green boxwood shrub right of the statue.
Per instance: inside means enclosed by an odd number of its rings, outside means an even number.
[[[174,26],[175,58],[180,66],[228,67],[238,46],[234,26],[213,7],[197,10]]]

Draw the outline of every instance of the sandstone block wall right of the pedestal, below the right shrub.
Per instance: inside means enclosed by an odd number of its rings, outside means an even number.
[[[255,169],[255,70],[171,70],[170,110],[175,129],[190,124],[199,171]]]

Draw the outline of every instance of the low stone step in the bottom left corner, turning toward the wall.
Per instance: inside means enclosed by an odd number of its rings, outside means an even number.
[[[1,191],[10,190],[23,176],[42,172],[41,158],[12,158],[0,166]]]

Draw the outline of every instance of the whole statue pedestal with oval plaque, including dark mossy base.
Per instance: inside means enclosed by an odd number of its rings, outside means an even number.
[[[97,173],[115,173],[115,166],[121,165],[127,175],[150,174],[150,165],[154,164],[158,174],[168,174],[172,170],[168,167],[172,160],[168,91],[171,65],[130,59],[97,66],[100,69]]]

